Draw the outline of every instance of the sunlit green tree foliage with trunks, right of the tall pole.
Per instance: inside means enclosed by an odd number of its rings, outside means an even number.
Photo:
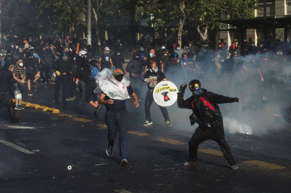
[[[185,22],[195,27],[205,40],[208,30],[218,27],[218,20],[251,18],[256,8],[254,0],[137,0],[137,6],[137,18],[151,14],[154,19],[149,22],[154,26],[167,27],[166,24],[177,20],[173,30],[178,31],[180,45],[182,34],[187,33],[183,30]]]

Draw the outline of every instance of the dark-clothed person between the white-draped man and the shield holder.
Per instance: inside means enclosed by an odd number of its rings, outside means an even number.
[[[129,64],[126,67],[126,71],[129,73],[130,82],[132,89],[135,90],[135,93],[138,96],[141,96],[141,80],[143,78],[143,62],[139,59],[140,54],[133,53],[133,59],[129,61]]]

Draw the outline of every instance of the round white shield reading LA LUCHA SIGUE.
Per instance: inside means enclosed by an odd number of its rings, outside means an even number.
[[[160,106],[171,106],[177,101],[178,89],[171,81],[162,81],[153,91],[154,100]]]

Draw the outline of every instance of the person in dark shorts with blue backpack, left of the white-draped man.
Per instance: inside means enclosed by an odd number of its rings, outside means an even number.
[[[86,103],[90,104],[91,106],[95,107],[95,112],[93,115],[98,116],[100,114],[101,107],[98,105],[98,97],[97,94],[94,92],[94,89],[97,88],[95,79],[90,77],[91,75],[91,66],[94,66],[98,71],[98,60],[93,58],[89,64],[85,65],[82,70],[82,76],[84,77],[84,81],[86,84],[85,89],[85,101]],[[99,71],[98,71],[99,72]]]

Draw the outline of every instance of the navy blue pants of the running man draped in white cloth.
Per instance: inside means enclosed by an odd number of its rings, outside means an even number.
[[[121,157],[128,157],[128,140],[126,134],[129,130],[129,113],[124,111],[107,111],[105,123],[108,127],[109,145],[113,146],[117,131],[119,132],[118,148]]]

